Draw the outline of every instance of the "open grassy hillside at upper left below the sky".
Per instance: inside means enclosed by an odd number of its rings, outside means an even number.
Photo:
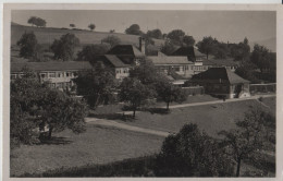
[[[82,45],[100,44],[101,39],[107,36],[114,35],[121,39],[121,44],[132,44],[138,46],[138,36],[120,33],[91,32],[87,29],[69,29],[53,27],[35,27],[24,26],[16,23],[11,23],[11,45],[16,45],[17,40],[25,32],[34,32],[39,44],[51,45],[54,39],[59,39],[62,35],[72,33],[78,37]],[[156,46],[163,44],[163,40],[156,39]]]

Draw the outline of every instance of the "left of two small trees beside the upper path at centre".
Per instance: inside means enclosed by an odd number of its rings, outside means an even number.
[[[125,77],[120,85],[119,97],[121,101],[128,102],[133,109],[133,117],[136,116],[138,107],[146,104],[146,100],[153,97],[152,89],[142,84],[135,77]]]

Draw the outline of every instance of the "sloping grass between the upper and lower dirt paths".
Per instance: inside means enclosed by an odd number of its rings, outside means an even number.
[[[259,106],[256,100],[243,100],[171,109],[168,114],[139,112],[134,121],[124,123],[168,132],[179,132],[185,123],[196,123],[200,130],[218,137],[219,131],[235,128],[234,122],[243,118],[245,111],[256,106]]]

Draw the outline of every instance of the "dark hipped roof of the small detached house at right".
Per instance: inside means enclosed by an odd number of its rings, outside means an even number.
[[[238,76],[234,72],[225,68],[210,68],[206,72],[201,72],[196,74],[192,77],[192,81],[197,80],[206,80],[206,81],[218,81],[218,80],[226,80],[231,84],[238,84],[238,83],[248,83],[249,81],[244,80],[243,77]]]

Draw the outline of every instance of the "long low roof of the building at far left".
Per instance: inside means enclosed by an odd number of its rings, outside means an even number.
[[[11,72],[21,72],[23,68],[32,71],[63,71],[63,70],[86,70],[91,69],[91,64],[87,61],[48,61],[48,62],[24,62],[11,63]]]

